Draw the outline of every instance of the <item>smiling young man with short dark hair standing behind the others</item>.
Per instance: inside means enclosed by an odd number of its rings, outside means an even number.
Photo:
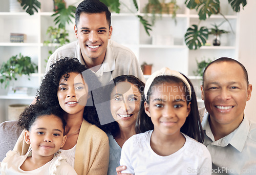
[[[120,75],[134,75],[145,81],[135,54],[111,40],[111,13],[99,0],[84,0],[76,9],[75,36],[77,41],[58,48],[49,58],[50,65],[64,57],[77,58],[106,84]]]

